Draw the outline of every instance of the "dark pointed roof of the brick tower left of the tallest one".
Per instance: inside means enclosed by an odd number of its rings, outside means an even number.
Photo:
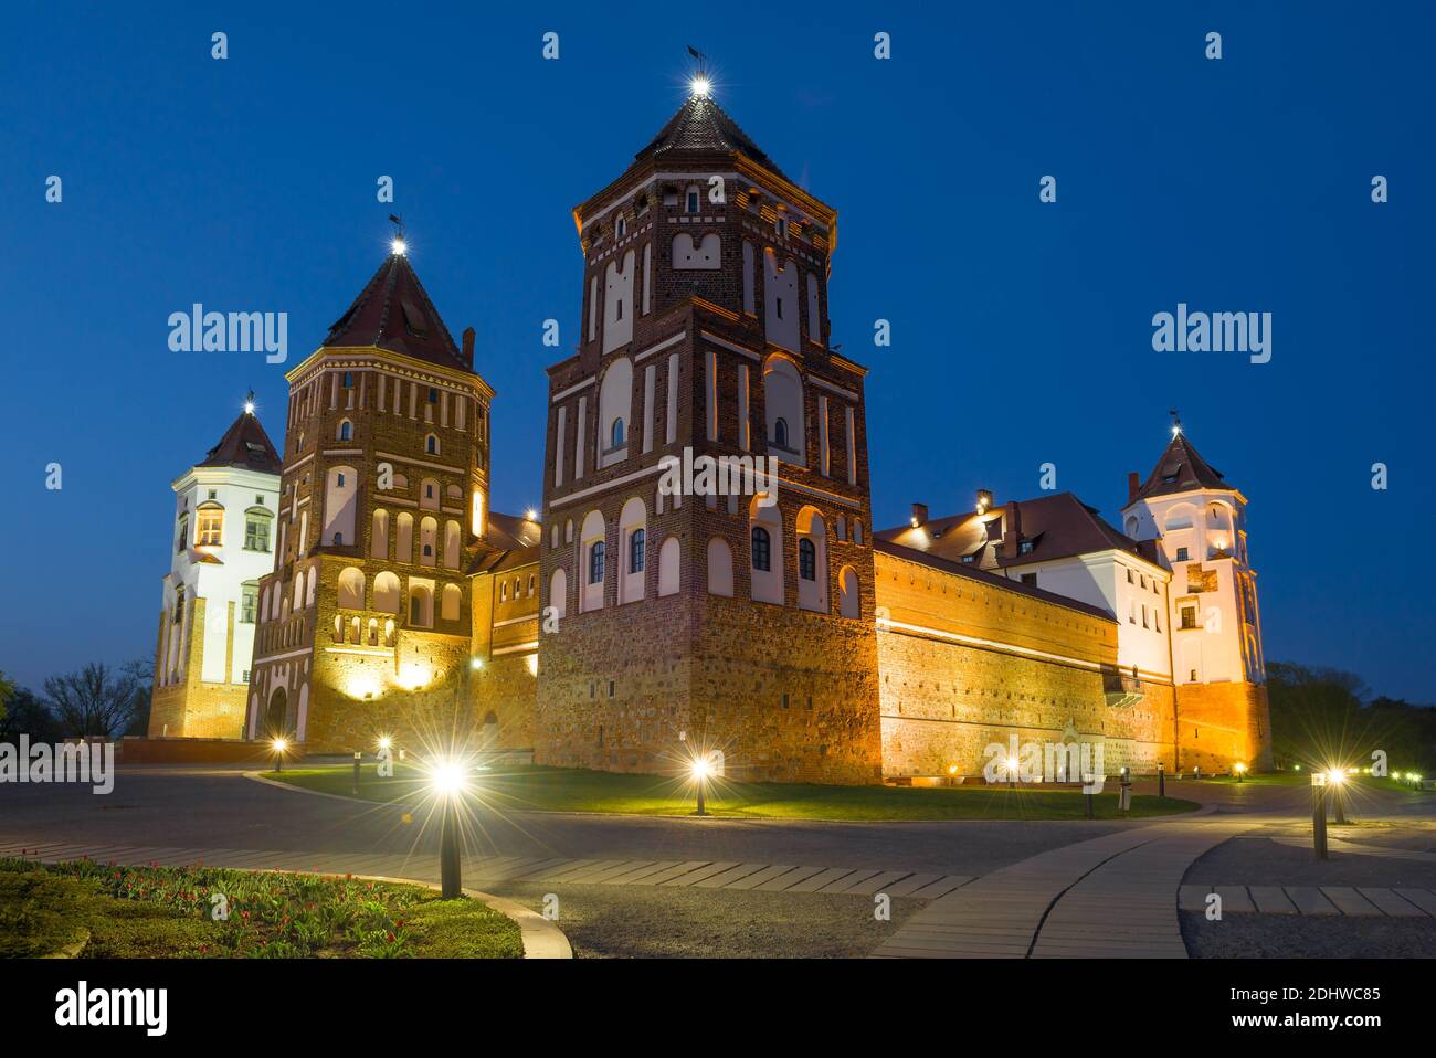
[[[322,346],[375,346],[441,368],[472,370],[406,254],[389,254]]]

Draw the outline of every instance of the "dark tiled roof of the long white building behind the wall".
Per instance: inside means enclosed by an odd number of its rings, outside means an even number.
[[[998,543],[1001,535],[988,533],[989,521],[1008,517],[1005,504],[994,507],[987,514],[965,511],[932,518],[916,528],[899,525],[877,533],[876,538],[890,540],[948,561],[961,563],[964,556],[976,556],[965,568],[1027,566],[1109,550],[1129,551],[1153,560],[1150,550],[1144,553],[1136,540],[1109,525],[1096,507],[1088,507],[1071,492],[1021,500],[1017,508],[1021,538],[1031,546],[1027,554],[1004,556]]]

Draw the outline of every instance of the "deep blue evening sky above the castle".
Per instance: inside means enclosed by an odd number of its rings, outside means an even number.
[[[1251,501],[1268,659],[1436,701],[1413,573],[1436,515],[1432,6],[302,7],[7,19],[0,668],[22,683],[152,656],[169,481],[250,386],[283,436],[283,373],[386,253],[391,211],[451,330],[478,330],[494,505],[536,505],[543,320],[577,336],[570,208],[681,105],[692,43],[722,106],[839,210],[833,340],[872,369],[879,527],[978,487],[1031,497],[1044,462],[1117,523],[1176,406]],[[194,301],[287,312],[289,363],[169,352],[167,317]],[[1153,313],[1179,301],[1272,313],[1271,362],[1153,352]]]

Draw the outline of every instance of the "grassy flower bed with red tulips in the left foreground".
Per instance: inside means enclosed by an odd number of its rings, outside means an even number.
[[[214,920],[215,896],[228,917]],[[69,950],[66,950],[69,949]],[[419,886],[0,858],[0,958],[518,959],[518,924]]]

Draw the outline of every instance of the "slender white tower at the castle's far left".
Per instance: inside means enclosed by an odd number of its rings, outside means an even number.
[[[279,454],[244,403],[202,462],[171,482],[151,738],[240,738],[260,579],[273,566]]]

